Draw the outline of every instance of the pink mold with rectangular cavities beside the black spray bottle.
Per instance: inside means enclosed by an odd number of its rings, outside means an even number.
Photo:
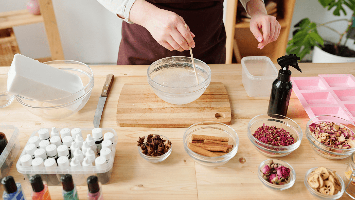
[[[355,121],[355,77],[351,74],[321,74],[291,77],[293,90],[308,117],[333,115]]]

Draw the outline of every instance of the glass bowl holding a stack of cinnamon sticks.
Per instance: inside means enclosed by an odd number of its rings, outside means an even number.
[[[238,151],[239,138],[228,125],[203,121],[191,125],[183,136],[184,149],[204,166],[217,167],[228,162]]]

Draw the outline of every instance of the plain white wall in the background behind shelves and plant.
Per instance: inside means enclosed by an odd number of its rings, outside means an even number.
[[[96,0],[52,1],[65,59],[90,64],[116,63],[121,40],[121,20]],[[0,1],[0,12],[26,9],[26,2],[27,0]],[[317,0],[296,0],[292,25],[304,17],[319,23],[341,18],[333,16],[332,11],[333,9],[331,11],[324,9]],[[348,11],[348,15],[351,14]],[[336,22],[329,26],[343,32],[346,29],[346,22]],[[14,31],[23,55],[30,58],[50,56],[43,23],[17,26],[14,27]],[[289,37],[293,31],[294,28],[291,27]],[[318,32],[324,39],[331,41],[339,39],[336,33],[326,28],[321,27]],[[355,49],[353,43],[354,40],[348,41],[352,49]],[[311,56],[307,56],[305,59],[310,58]]]

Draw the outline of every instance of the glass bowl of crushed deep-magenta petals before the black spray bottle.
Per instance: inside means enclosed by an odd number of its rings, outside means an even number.
[[[292,119],[277,114],[261,114],[249,121],[248,137],[263,155],[277,158],[293,152],[301,144],[302,129]]]

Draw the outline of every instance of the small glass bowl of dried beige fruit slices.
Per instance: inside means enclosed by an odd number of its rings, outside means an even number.
[[[334,200],[343,196],[345,184],[339,174],[325,167],[314,167],[306,172],[304,183],[317,199]]]

